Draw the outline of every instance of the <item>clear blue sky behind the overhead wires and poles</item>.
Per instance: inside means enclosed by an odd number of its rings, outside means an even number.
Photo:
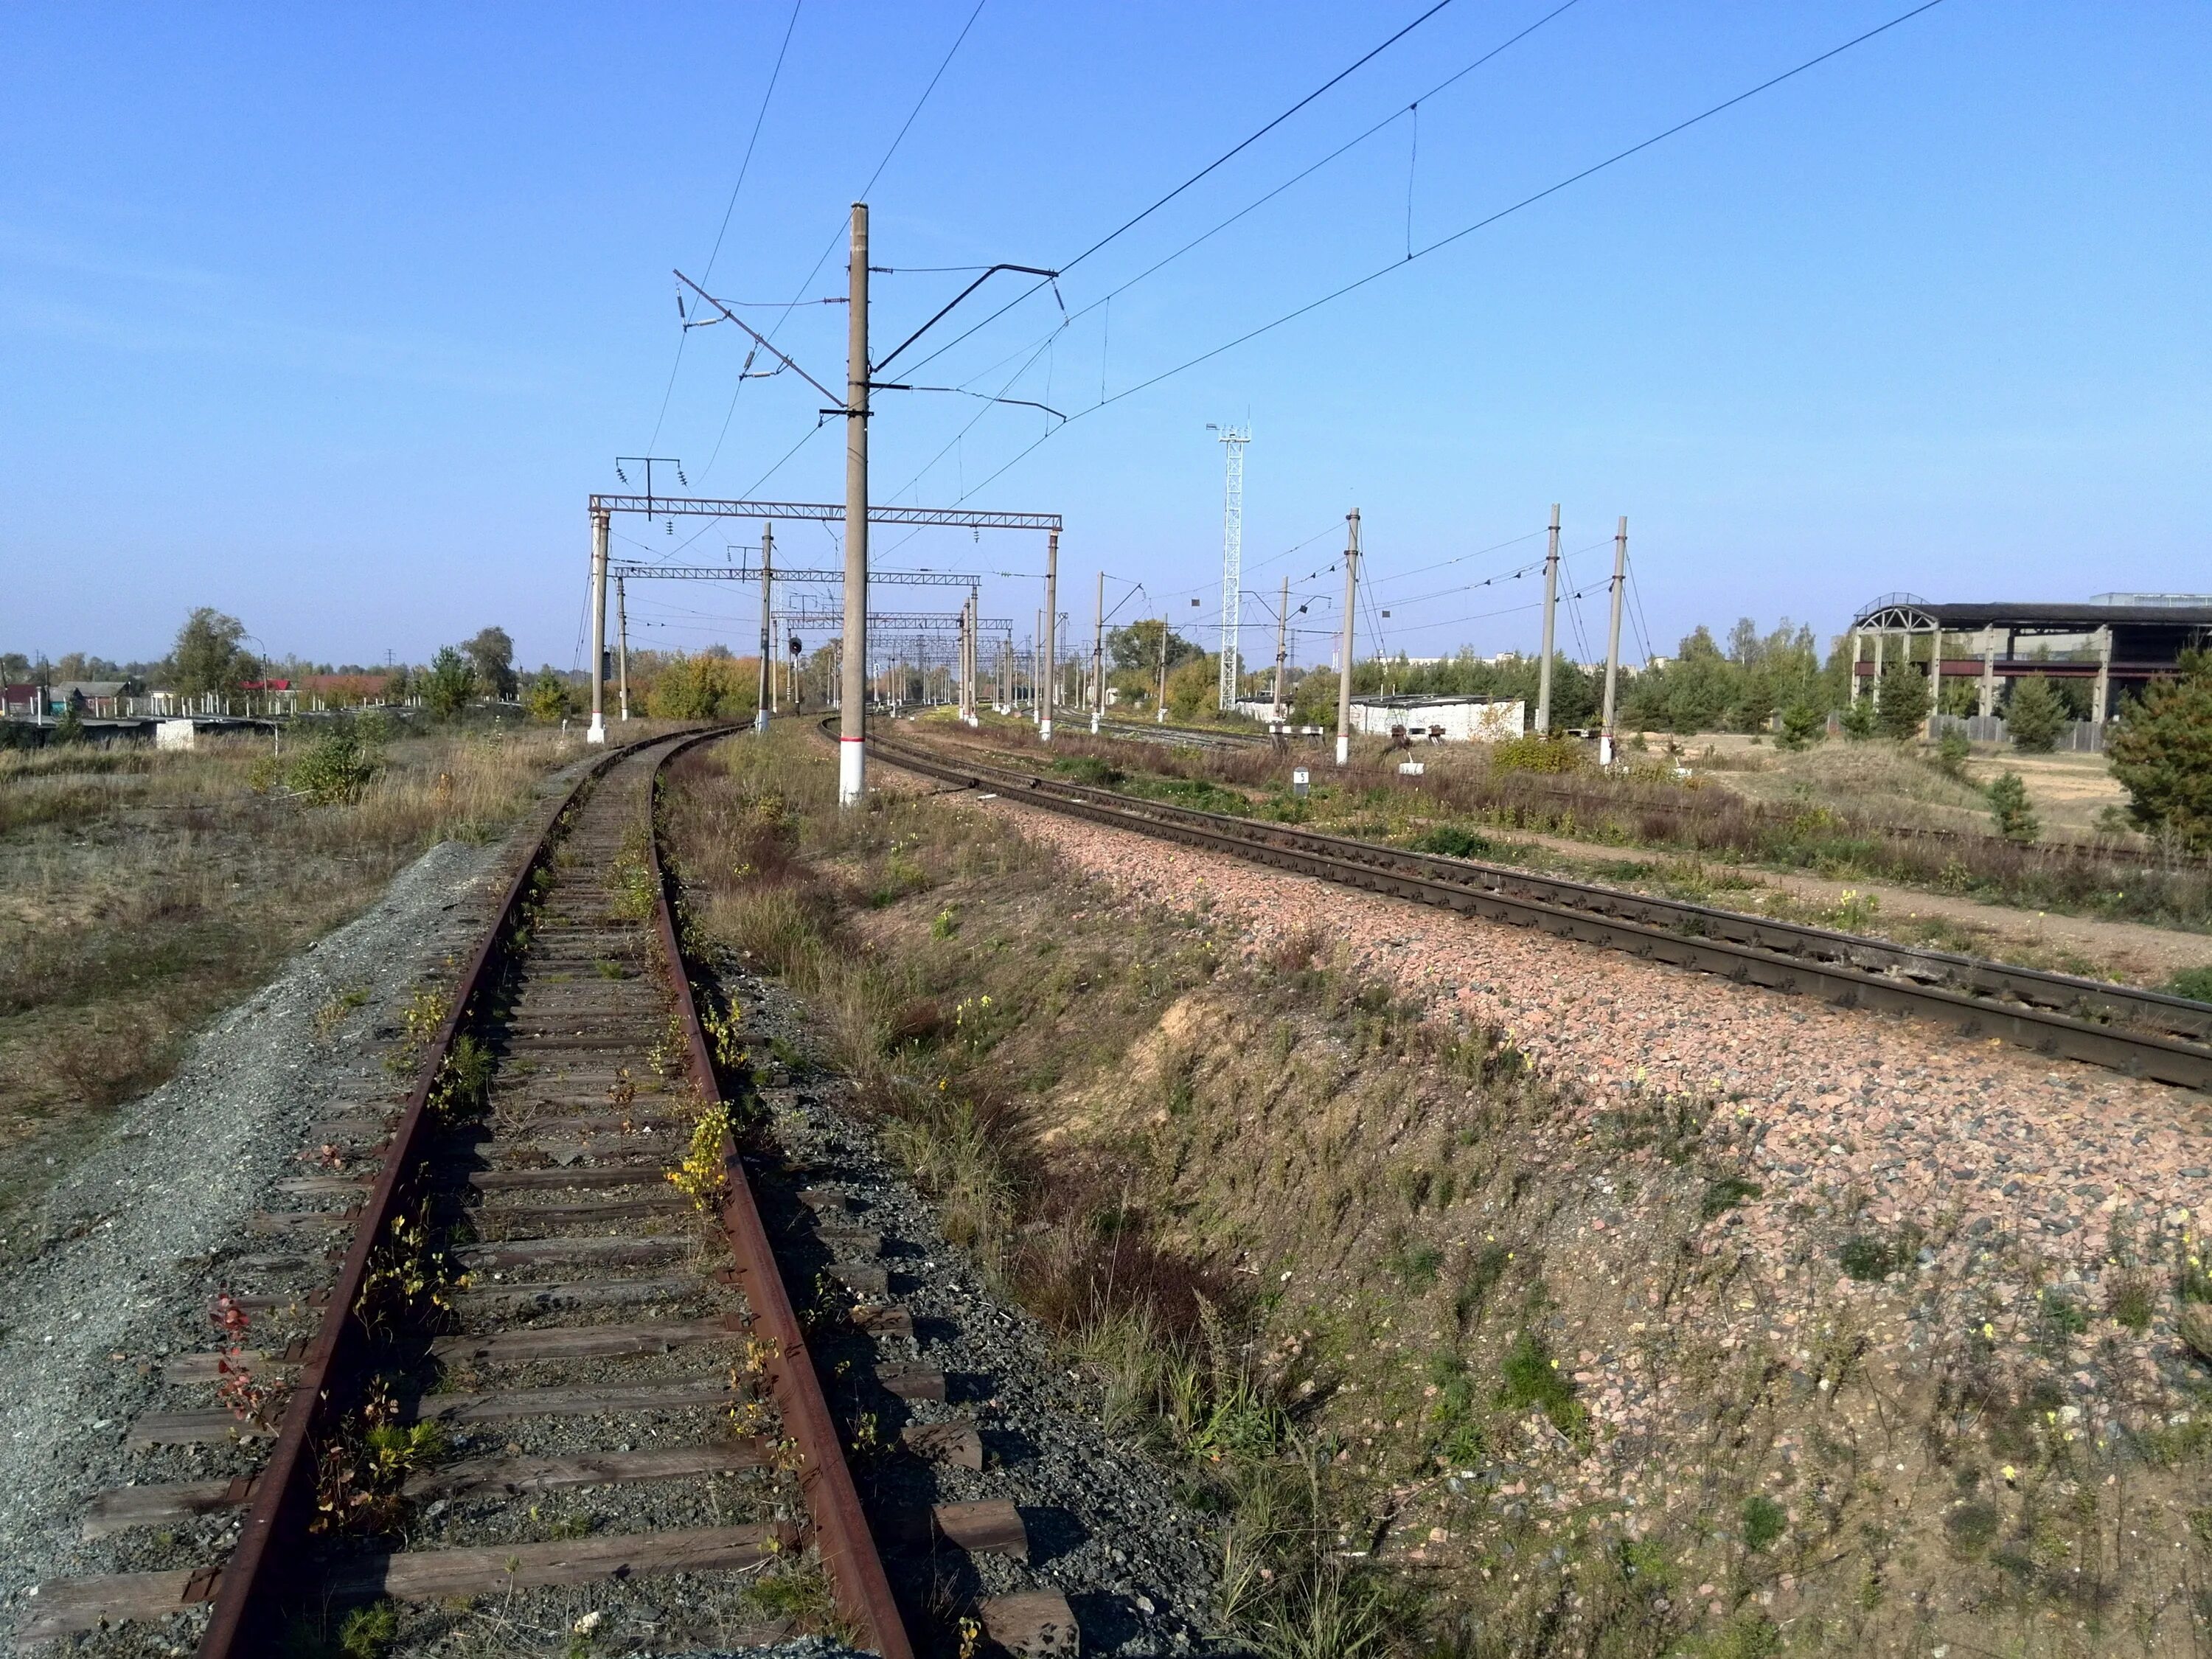
[[[925,376],[998,389],[1051,336],[1006,396],[1077,414],[1405,254],[1409,208],[1418,248],[1909,0],[1579,0],[1402,113],[1555,4],[1455,0],[1075,268],[1057,336],[1037,294]],[[874,259],[1060,265],[1420,9],[987,0],[869,190]],[[803,0],[712,288],[841,292],[841,252],[807,272],[971,11]],[[615,487],[613,456],[681,456],[695,489],[737,493],[821,405],[790,376],[732,405],[721,327],[690,336],[661,416],[670,268],[708,263],[790,15],[0,11],[0,646],[159,655],[217,604],[274,653],[422,659],[498,622],[529,664],[577,659],[584,495]],[[1416,655],[1533,646],[1535,613],[1509,611],[1531,582],[1464,584],[1540,542],[1411,573],[1537,531],[1553,500],[1582,584],[1630,515],[1659,650],[1739,613],[1827,633],[1889,588],[2205,588],[2208,93],[2203,4],[1947,0],[1079,416],[989,484],[1042,414],[885,396],[878,498],[920,473],[905,500],[1060,511],[1079,622],[1104,566],[1190,624],[1219,580],[1206,422],[1250,420],[1250,586],[1325,564],[1360,507],[1387,644]],[[887,345],[967,279],[876,281]],[[843,310],[794,312],[781,341],[841,383]],[[761,487],[836,500],[836,429]],[[622,529],[659,557],[697,524]],[[730,540],[752,538],[708,529],[692,553]],[[823,529],[781,546],[834,553]],[[880,533],[878,555],[1042,562],[1035,538],[951,533]],[[1033,582],[987,593],[1035,606]],[[639,644],[743,644],[750,622],[717,617],[745,613],[743,591],[633,591]],[[1601,648],[1595,599],[1586,624]]]

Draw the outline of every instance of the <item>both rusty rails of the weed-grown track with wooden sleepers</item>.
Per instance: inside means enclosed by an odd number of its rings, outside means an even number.
[[[668,752],[655,765],[648,799],[657,803],[668,761],[699,743],[730,737],[734,730],[743,728],[697,732],[670,743]],[[316,1433],[343,1409],[347,1385],[352,1383],[349,1371],[361,1363],[363,1347],[369,1340],[369,1332],[354,1316],[354,1307],[361,1298],[376,1241],[398,1212],[396,1206],[409,1190],[416,1166],[422,1161],[425,1124],[440,1073],[453,1051],[456,1037],[471,1018],[471,1004],[484,989],[489,971],[500,960],[502,945],[509,940],[518,916],[531,898],[538,874],[560,845],[568,818],[599,779],[653,743],[668,743],[668,739],[644,739],[608,750],[577,779],[568,796],[546,821],[531,852],[522,858],[498,918],[469,956],[467,969],[456,984],[451,1009],[431,1037],[405,1113],[394,1128],[383,1170],[361,1210],[361,1221],[338,1279],[332,1285],[323,1323],[303,1358],[285,1405],[270,1460],[254,1480],[254,1495],[243,1517],[239,1544],[215,1579],[215,1608],[199,1644],[201,1659],[246,1659],[246,1655],[270,1650],[272,1630],[268,1619],[285,1590],[296,1588],[296,1555],[303,1548],[307,1511],[314,1502],[312,1451]],[[657,894],[655,925],[668,958],[670,991],[686,1033],[690,1077],[701,1099],[714,1104],[721,1102],[721,1086],[684,964],[670,900],[672,887],[661,860],[657,825],[648,834],[648,860]],[[737,1261],[737,1281],[752,1307],[754,1325],[774,1347],[770,1387],[783,1413],[785,1431],[799,1447],[801,1491],[807,1500],[812,1533],[821,1546],[836,1606],[854,1624],[863,1646],[874,1648],[885,1659],[911,1659],[914,1648],[898,1606],[891,1599],[889,1579],[885,1577],[867,1517],[860,1513],[860,1500],[852,1482],[852,1471],[845,1467],[843,1442],[823,1398],[821,1378],[776,1270],[743,1159],[728,1137],[723,1139],[723,1168],[728,1175],[728,1199],[721,1208],[721,1223]]]

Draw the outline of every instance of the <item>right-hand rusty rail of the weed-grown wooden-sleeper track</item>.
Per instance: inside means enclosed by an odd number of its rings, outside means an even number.
[[[706,732],[686,743],[677,743],[661,757],[653,774],[655,823],[646,836],[653,867],[655,922],[661,949],[668,953],[670,995],[684,1020],[684,1042],[690,1062],[692,1086],[703,1102],[721,1104],[721,1082],[714,1075],[714,1053],[708,1046],[706,1029],[699,1022],[699,1004],[692,1000],[690,973],[684,967],[684,945],[677,931],[672,880],[661,863],[659,836],[659,790],[668,772],[668,761],[699,743],[728,737],[728,732]],[[867,1515],[860,1509],[860,1493],[852,1484],[852,1469],[845,1464],[845,1442],[830,1402],[823,1396],[821,1374],[807,1352],[805,1325],[792,1307],[783,1274],[776,1267],[774,1248],[768,1243],[768,1225],[761,1221],[761,1206],[752,1194],[745,1161],[737,1141],[723,1133],[721,1168],[726,1197],[721,1201],[721,1228],[730,1239],[730,1254],[737,1256],[737,1283],[745,1292],[752,1310],[752,1325],[774,1349],[768,1358],[768,1385],[783,1413],[783,1431],[799,1447],[799,1489],[805,1493],[807,1513],[814,1520],[814,1542],[823,1553],[823,1571],[830,1575],[830,1593],[856,1628],[858,1646],[883,1655],[883,1659],[914,1659],[914,1644],[891,1597],[891,1582],[883,1571],[883,1555],[869,1533]]]

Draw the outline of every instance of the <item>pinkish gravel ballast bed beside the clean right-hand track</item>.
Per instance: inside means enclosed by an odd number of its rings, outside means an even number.
[[[1754,1261],[1790,1259],[1801,1234],[1794,1199],[1851,1212],[1863,1194],[1871,1223],[1929,1232],[1922,1283],[1953,1287],[1947,1318],[1980,1323],[1980,1298],[1993,1296],[2008,1310],[1993,1329],[2026,1340],[2035,1296],[2026,1283],[1993,1283],[1991,1245],[2013,1241],[2086,1294],[2115,1228],[2148,1243],[2190,1228],[2192,1210],[2199,1237],[2212,1225],[2212,1104],[2201,1095],[2081,1064],[2053,1068],[1940,1026],[1451,918],[1006,801],[984,805],[1130,896],[1210,909],[1250,951],[1312,931],[1360,973],[1506,1029],[1537,1066],[1582,1084],[1588,1110],[1637,1086],[1728,1102],[1765,1186],[1732,1239]],[[1805,1312],[1825,1294],[1882,1292],[1807,1279],[1792,1283]],[[2132,1380],[2152,1400],[2163,1383],[2168,1407],[2179,1407],[2190,1367],[2166,1316],[2124,1347],[2117,1360]],[[2093,1396],[2117,1378],[2075,1380],[2097,1413]]]

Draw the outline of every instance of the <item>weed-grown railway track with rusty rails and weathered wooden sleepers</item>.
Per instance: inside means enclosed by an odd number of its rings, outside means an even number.
[[[617,750],[549,816],[436,1026],[414,1011],[405,1106],[316,1128],[312,1172],[257,1217],[272,1250],[237,1263],[261,1287],[170,1356],[175,1409],[131,1427],[144,1478],[86,1511],[124,1559],[170,1559],[40,1586],[24,1648],[128,1652],[139,1626],[181,1650],[175,1615],[206,1606],[204,1659],[347,1619],[405,1652],[493,1601],[500,1652],[743,1646],[794,1619],[916,1652],[918,1590],[894,1595],[847,1464],[849,1374],[894,1400],[942,1400],[945,1376],[905,1363],[914,1321],[852,1194],[763,1212],[748,1177],[743,1011],[701,1004],[653,830],[661,768],[714,737]],[[907,1455],[973,1440],[940,1425]],[[878,1522],[922,1577],[933,1551],[1024,1548],[1011,1502]],[[1006,1650],[1073,1652],[1057,1593],[969,1613]]]

